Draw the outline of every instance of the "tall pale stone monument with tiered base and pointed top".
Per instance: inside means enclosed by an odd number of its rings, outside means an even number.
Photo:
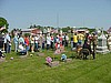
[[[103,29],[101,35],[98,38],[97,53],[108,53],[107,38],[103,34]]]

